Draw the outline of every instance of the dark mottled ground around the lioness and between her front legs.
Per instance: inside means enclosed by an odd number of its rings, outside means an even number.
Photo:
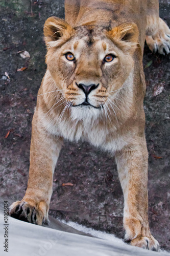
[[[29,174],[31,120],[46,69],[43,24],[49,16],[64,17],[64,0],[1,0],[0,9],[0,195],[20,200]],[[169,0],[160,0],[160,16],[170,26]],[[25,50],[29,60],[20,56]],[[166,250],[170,250],[169,57],[152,54],[145,46],[149,222]],[[17,71],[21,68],[27,69]],[[66,182],[74,186],[63,187]],[[65,141],[53,184],[51,215],[123,237],[123,193],[112,157],[89,144]]]

